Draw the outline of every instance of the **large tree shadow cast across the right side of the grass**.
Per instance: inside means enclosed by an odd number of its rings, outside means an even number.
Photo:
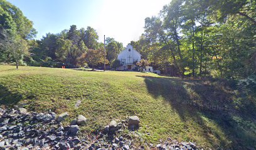
[[[162,96],[168,101],[184,123],[186,123],[186,118],[196,121],[200,128],[205,131],[204,138],[215,148],[245,149],[243,146],[255,146],[256,131],[253,129],[255,129],[256,123],[256,108],[250,106],[251,111],[247,110],[246,112],[235,108],[237,106],[232,99],[234,95],[225,87],[179,78],[139,77],[144,78],[149,93],[154,98]],[[241,105],[249,106],[250,104]],[[221,132],[228,139],[221,138],[220,133],[206,126],[202,117],[211,119],[215,124],[218,124]],[[248,121],[248,123],[239,123],[234,118],[241,118],[241,122]],[[216,145],[216,141],[209,134],[218,138],[221,145]],[[227,141],[232,141],[232,143],[227,143]]]

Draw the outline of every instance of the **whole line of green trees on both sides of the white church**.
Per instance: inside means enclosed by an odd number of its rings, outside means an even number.
[[[6,0],[0,4],[1,62],[93,68],[105,61],[119,66],[115,59],[124,46],[114,38],[107,37],[104,51],[95,29],[72,25],[36,40],[33,22]],[[255,76],[255,7],[251,0],[173,0],[158,16],[145,19],[144,33],[131,44],[155,69],[174,68],[177,76]]]

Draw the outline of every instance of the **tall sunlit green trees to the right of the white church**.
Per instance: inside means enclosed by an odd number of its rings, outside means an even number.
[[[132,46],[178,76],[247,78],[256,70],[256,1],[173,0]]]

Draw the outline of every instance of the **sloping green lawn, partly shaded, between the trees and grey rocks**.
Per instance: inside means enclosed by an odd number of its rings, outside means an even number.
[[[68,111],[68,121],[83,114],[89,119],[83,131],[137,115],[139,136],[152,143],[171,137],[205,148],[255,146],[255,111],[240,108],[245,104],[237,97],[218,84],[156,74],[0,66],[0,104]],[[78,100],[82,103],[75,108]]]

